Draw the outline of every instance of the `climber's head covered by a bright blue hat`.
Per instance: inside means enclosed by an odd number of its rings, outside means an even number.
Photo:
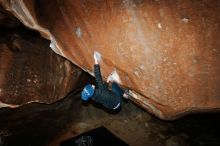
[[[91,84],[86,85],[81,93],[82,100],[87,101],[93,96],[94,92],[95,92],[94,85],[91,85]]]

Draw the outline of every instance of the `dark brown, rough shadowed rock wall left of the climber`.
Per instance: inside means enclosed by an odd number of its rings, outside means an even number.
[[[0,28],[0,107],[55,102],[82,86],[85,74],[39,34]]]

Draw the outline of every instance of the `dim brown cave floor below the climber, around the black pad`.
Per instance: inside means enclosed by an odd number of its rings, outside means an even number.
[[[162,121],[132,102],[118,113],[80,101],[79,92],[51,104],[32,103],[0,110],[1,146],[59,146],[62,140],[105,126],[131,146],[220,145],[220,115],[192,115]]]

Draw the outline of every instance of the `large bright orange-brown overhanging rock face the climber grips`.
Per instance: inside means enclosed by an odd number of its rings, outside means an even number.
[[[104,77],[116,70],[160,118],[220,109],[220,1],[0,2],[84,70],[98,51]]]

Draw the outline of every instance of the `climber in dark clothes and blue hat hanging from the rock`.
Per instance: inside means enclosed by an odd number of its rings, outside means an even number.
[[[117,110],[121,106],[121,97],[128,98],[128,90],[121,89],[114,78],[108,78],[107,83],[103,83],[98,63],[100,58],[101,55],[95,52],[94,74],[96,86],[91,84],[86,85],[81,93],[81,98],[84,101],[92,99],[109,110]],[[112,82],[112,90],[108,89],[109,82]]]

